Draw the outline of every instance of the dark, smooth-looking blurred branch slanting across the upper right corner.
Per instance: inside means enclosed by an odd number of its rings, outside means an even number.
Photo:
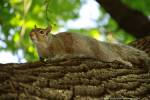
[[[137,38],[150,35],[150,20],[143,13],[131,9],[121,0],[96,0],[126,32]],[[142,1],[141,1],[142,2]]]

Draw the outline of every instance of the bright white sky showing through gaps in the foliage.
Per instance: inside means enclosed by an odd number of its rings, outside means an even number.
[[[92,9],[91,9],[92,8]],[[95,27],[94,22],[101,15],[99,12],[99,4],[95,0],[87,0],[79,11],[80,17],[76,20],[69,20],[66,26],[68,28],[80,29]],[[61,28],[59,31],[66,31]],[[0,45],[4,46],[0,42]],[[19,58],[18,58],[19,57]],[[23,58],[22,51],[19,50],[17,55],[13,55],[8,51],[0,51],[0,63],[24,63],[26,60]]]

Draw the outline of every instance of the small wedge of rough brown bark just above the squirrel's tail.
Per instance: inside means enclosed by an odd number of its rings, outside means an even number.
[[[133,41],[129,43],[129,45],[139,50],[145,51],[150,57],[150,36]]]

